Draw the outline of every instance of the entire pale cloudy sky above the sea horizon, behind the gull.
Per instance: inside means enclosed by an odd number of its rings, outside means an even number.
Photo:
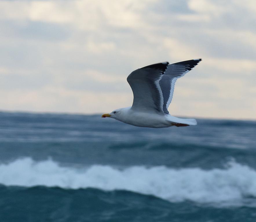
[[[150,64],[202,61],[176,116],[256,119],[255,0],[0,1],[0,110],[107,113]]]

